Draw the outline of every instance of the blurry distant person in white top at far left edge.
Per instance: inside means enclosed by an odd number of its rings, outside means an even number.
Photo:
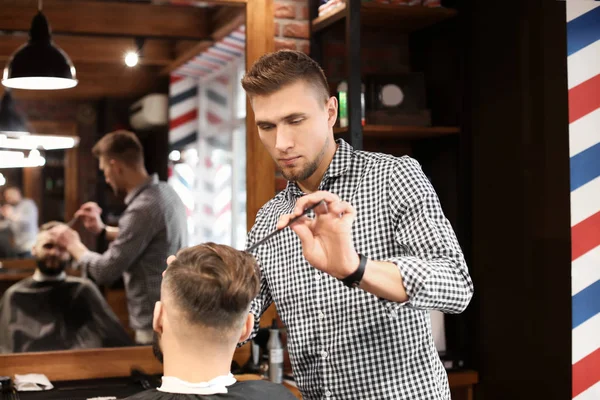
[[[6,204],[1,212],[4,221],[0,229],[8,228],[14,240],[13,251],[19,258],[31,257],[31,248],[38,233],[38,209],[31,199],[24,199],[21,190],[12,186],[4,190]]]

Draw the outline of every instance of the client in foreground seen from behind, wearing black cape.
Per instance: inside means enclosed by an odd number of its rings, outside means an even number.
[[[129,400],[295,399],[283,385],[230,373],[237,343],[254,325],[250,301],[260,282],[250,254],[201,244],[179,251],[163,276],[153,321],[162,385]]]

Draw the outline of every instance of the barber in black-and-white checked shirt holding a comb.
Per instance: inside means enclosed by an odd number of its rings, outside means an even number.
[[[248,246],[325,203],[253,252],[255,332],[275,302],[304,399],[450,399],[428,311],[462,312],[473,283],[419,164],[335,141],[337,100],[303,53],[263,56],[242,86],[288,180]]]

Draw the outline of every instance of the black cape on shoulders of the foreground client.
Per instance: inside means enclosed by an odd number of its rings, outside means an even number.
[[[128,397],[126,400],[296,400],[283,385],[268,381],[235,382],[227,387],[227,393],[178,394],[150,389]]]

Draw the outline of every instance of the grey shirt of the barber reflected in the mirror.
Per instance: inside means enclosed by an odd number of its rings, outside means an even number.
[[[160,300],[167,257],[187,245],[186,209],[166,182],[152,175],[125,199],[119,235],[102,254],[86,252],[79,260],[87,276],[99,285],[123,277],[129,325],[152,329],[154,303]]]

